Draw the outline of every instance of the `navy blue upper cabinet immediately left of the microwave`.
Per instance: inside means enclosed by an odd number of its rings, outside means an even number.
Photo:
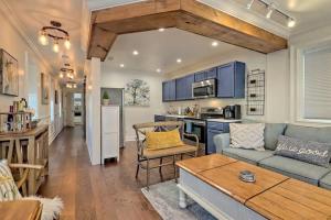
[[[177,100],[192,99],[193,82],[194,82],[194,75],[189,75],[175,79],[175,99]]]

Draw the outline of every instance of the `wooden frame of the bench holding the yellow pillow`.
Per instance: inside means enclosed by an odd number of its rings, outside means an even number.
[[[184,123],[182,121],[164,121],[164,122],[151,122],[151,123],[141,123],[141,124],[135,124],[134,129],[136,131],[136,142],[137,142],[137,170],[136,170],[136,178],[138,178],[139,174],[139,168],[143,168],[147,170],[147,189],[149,189],[149,175],[150,175],[150,169],[153,168],[159,168],[159,174],[161,177],[161,180],[163,180],[162,176],[162,167],[163,166],[173,166],[174,168],[174,179],[177,180],[177,167],[175,167],[175,157],[180,155],[180,158],[183,158],[183,155],[189,155],[192,157],[197,156],[197,151],[199,151],[199,138],[195,134],[188,134],[183,132],[183,125]],[[195,151],[194,152],[189,152],[189,153],[181,153],[181,154],[169,154],[169,155],[163,155],[159,157],[153,157],[153,158],[148,158],[143,155],[143,150],[146,148],[145,144],[145,138],[146,138],[146,130],[150,131],[171,131],[174,129],[179,129],[181,133],[181,139],[183,140],[184,136],[191,136],[195,139]],[[162,150],[160,150],[162,151]],[[171,162],[163,163],[164,157],[172,157]],[[150,161],[151,160],[160,160],[160,164],[157,166],[150,166]],[[146,162],[146,164],[143,164]]]

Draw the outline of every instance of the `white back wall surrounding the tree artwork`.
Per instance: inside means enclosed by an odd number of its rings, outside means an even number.
[[[135,123],[152,122],[156,113],[163,113],[162,81],[164,77],[157,73],[140,73],[136,70],[111,70],[106,64],[102,66],[102,87],[125,88],[131,79],[142,79],[150,86],[149,107],[124,107],[125,141],[135,140]]]

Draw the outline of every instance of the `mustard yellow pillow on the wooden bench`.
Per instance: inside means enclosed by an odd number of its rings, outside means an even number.
[[[184,145],[178,129],[162,132],[147,132],[146,144],[148,150],[162,150]]]

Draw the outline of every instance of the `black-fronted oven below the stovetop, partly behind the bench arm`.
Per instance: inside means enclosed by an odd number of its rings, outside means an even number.
[[[184,119],[184,132],[188,134],[195,134],[200,143],[205,143],[205,121],[199,119]],[[192,136],[185,139],[195,141]]]

